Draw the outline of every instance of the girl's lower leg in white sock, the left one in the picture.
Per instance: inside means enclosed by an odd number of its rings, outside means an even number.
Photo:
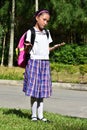
[[[37,98],[31,97],[32,118],[37,117]]]

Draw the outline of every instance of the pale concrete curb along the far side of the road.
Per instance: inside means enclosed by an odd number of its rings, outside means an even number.
[[[23,80],[0,80],[0,84],[4,85],[15,85],[15,86],[23,86]],[[74,83],[52,83],[53,87],[64,88],[64,89],[73,89],[79,91],[87,91],[87,84],[74,84]]]

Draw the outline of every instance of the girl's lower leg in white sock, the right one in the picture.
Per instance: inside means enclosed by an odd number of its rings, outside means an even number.
[[[38,106],[37,106],[38,118],[42,119],[43,118],[43,98],[38,98],[37,102],[38,102]]]

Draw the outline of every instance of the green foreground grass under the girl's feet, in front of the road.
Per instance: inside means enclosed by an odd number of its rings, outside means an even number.
[[[30,111],[0,108],[0,130],[87,130],[87,119],[44,112],[51,122],[32,122]]]

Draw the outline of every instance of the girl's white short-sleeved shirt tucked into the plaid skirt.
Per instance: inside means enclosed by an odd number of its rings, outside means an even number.
[[[49,33],[49,37],[46,35],[46,31],[38,31],[35,27],[35,40],[32,50],[30,51],[31,59],[41,59],[48,60],[49,59],[49,44],[52,42],[52,38]],[[31,31],[27,31],[26,41],[31,41]]]

